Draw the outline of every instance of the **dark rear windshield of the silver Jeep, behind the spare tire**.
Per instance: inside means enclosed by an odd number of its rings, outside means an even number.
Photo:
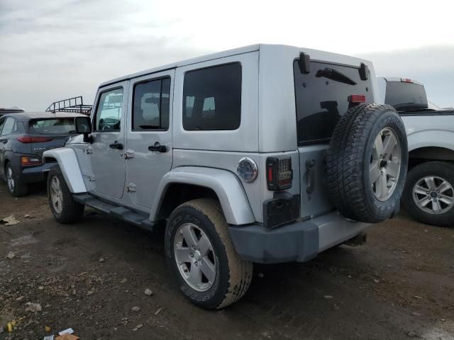
[[[353,94],[364,95],[372,102],[370,75],[360,79],[358,68],[312,62],[311,72],[302,74],[294,61],[295,101],[298,144],[328,142],[339,118],[344,115]]]

